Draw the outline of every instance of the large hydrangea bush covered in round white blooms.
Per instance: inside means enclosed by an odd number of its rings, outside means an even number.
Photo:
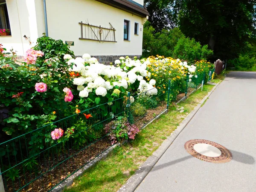
[[[66,55],[65,58],[70,65],[69,70],[80,75],[73,79],[73,84],[77,85],[79,90],[79,96],[97,105],[127,96],[128,91],[139,93],[148,91],[149,95],[157,94],[157,89],[154,87],[156,81],[151,79],[147,83],[144,80],[146,76],[151,75],[145,60],[120,57],[114,62],[114,66],[100,64],[89,54],[75,59]]]

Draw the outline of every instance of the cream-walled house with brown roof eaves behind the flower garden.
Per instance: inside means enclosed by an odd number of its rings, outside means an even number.
[[[43,33],[70,45],[75,55],[89,53],[102,63],[142,54],[143,0],[0,0],[0,36],[7,50],[24,55]]]

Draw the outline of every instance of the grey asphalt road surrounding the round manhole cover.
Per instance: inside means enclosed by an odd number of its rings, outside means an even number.
[[[167,149],[136,192],[256,192],[256,73],[230,72]],[[192,157],[205,139],[229,149],[228,163]]]

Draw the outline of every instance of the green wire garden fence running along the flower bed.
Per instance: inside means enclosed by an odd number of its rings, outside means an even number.
[[[177,95],[197,89],[204,76],[194,76],[191,82],[188,76],[180,90],[170,80],[135,96],[128,93],[128,97],[81,111],[0,143],[0,177],[5,192],[51,191],[115,144],[110,142],[111,131],[105,130],[109,122],[120,120],[122,123],[126,118],[141,129],[166,111]]]

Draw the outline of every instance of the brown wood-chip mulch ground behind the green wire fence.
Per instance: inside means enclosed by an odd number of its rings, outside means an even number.
[[[157,115],[166,110],[166,102],[159,102],[157,108],[147,109],[147,112],[142,117],[135,117],[134,124],[138,128],[143,128]],[[111,142],[109,141],[108,135],[105,135],[102,140],[98,140],[92,143],[85,149],[79,151],[70,149],[68,151],[61,151],[61,154],[55,154],[55,151],[49,151],[49,157],[42,155],[38,160],[39,165],[37,166],[37,173],[26,172],[20,175],[16,182],[8,180],[6,186],[8,192],[17,191],[24,186],[26,183],[30,183],[22,192],[27,191],[38,191],[47,192],[52,189],[53,186],[65,180],[70,175],[73,175],[77,170],[81,169],[84,165],[89,163],[95,157],[102,154],[110,148]],[[71,157],[67,159],[67,157]],[[49,168],[52,168],[49,170]],[[22,170],[22,167],[18,166],[17,169]],[[37,178],[38,177],[38,178]]]

